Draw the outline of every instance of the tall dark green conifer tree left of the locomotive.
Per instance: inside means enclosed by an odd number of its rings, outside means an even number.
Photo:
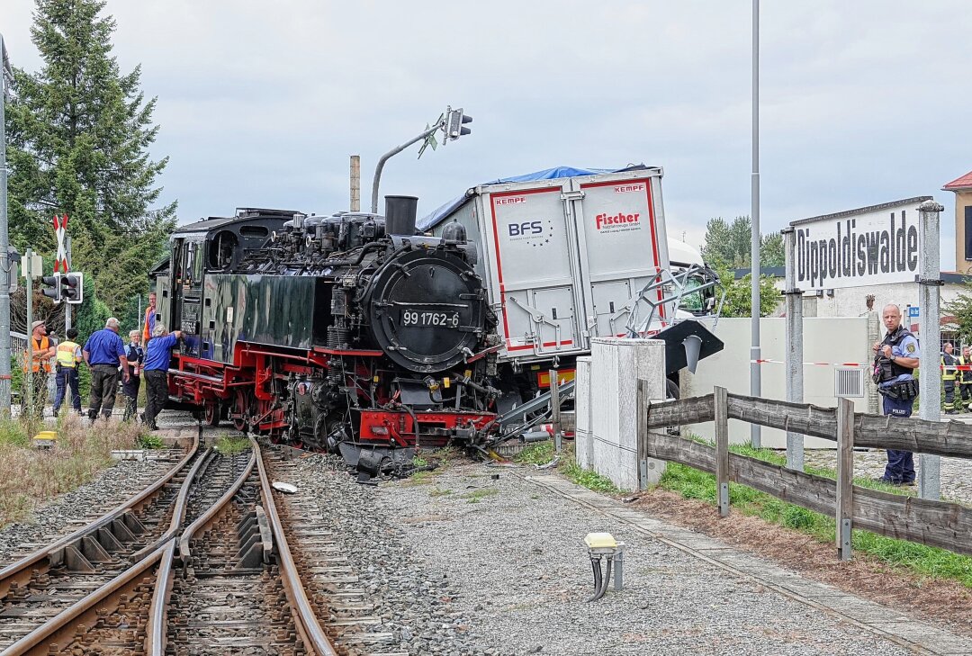
[[[84,271],[110,308],[148,289],[164,252],[176,203],[154,208],[168,157],[149,147],[156,98],[139,90],[141,67],[122,75],[112,56],[104,0],[37,0],[31,37],[44,60],[14,71],[7,106],[11,241],[54,250],[51,218],[67,213],[73,268]]]

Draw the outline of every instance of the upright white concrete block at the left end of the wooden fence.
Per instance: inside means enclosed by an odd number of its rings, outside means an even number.
[[[580,466],[607,476],[622,490],[655,483],[660,461],[638,459],[638,380],[649,383],[652,399],[665,397],[665,344],[617,337],[591,340],[591,357],[577,366],[576,458]]]

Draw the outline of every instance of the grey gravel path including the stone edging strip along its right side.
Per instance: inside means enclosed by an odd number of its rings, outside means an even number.
[[[493,473],[499,479],[492,478]],[[381,486],[430,571],[497,654],[957,654],[962,639],[528,468],[451,467]],[[581,544],[626,544],[625,587],[592,604]]]

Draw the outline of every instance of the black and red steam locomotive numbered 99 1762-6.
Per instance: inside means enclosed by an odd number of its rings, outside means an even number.
[[[154,272],[181,329],[171,406],[298,446],[473,443],[496,424],[500,339],[465,227],[416,236],[417,199],[384,216],[240,209],[181,226]]]

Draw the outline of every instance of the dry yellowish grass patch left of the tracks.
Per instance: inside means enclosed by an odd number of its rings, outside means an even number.
[[[114,465],[111,452],[134,448],[140,429],[115,420],[93,426],[71,414],[57,420],[51,449],[30,446],[16,421],[0,422],[0,527],[29,520],[40,504],[87,483]]]

